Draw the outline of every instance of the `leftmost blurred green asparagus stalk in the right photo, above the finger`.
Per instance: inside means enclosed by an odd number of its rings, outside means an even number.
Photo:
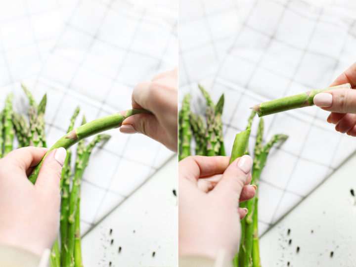
[[[192,136],[192,132],[190,129],[190,94],[186,94],[183,98],[182,102],[182,125],[181,125],[181,130],[182,130],[182,153],[181,153],[181,159],[184,159],[188,156],[190,156],[190,140]]]

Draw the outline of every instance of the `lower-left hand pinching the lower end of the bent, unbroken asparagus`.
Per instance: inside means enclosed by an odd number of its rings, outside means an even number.
[[[51,248],[59,228],[59,184],[66,150],[45,158],[35,185],[31,173],[46,148],[23,147],[0,160],[0,243],[29,250],[39,256]]]

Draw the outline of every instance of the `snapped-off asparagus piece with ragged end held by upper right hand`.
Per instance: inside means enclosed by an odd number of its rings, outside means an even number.
[[[279,99],[267,101],[264,103],[257,104],[251,109],[256,110],[259,117],[274,114],[290,109],[301,108],[301,107],[308,107],[314,105],[313,99],[315,94],[330,90],[330,89],[338,89],[338,88],[349,88],[351,89],[350,84],[343,84],[339,86],[328,87],[324,89],[313,89],[308,92],[286,96]]]

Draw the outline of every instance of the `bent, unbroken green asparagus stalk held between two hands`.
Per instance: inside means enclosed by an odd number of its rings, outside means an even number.
[[[53,149],[64,147],[65,149],[70,148],[72,145],[76,144],[81,139],[87,138],[93,134],[98,134],[113,128],[117,128],[121,126],[121,123],[128,117],[139,114],[152,114],[150,111],[144,109],[129,109],[123,111],[121,113],[116,113],[112,115],[108,115],[96,120],[93,120],[85,125],[82,125],[68,134],[65,134],[62,138],[60,138],[47,152],[45,157],[52,151]],[[32,183],[36,182],[37,176],[43,164],[45,157],[42,159],[39,165],[33,170],[32,174],[29,177],[29,180]]]

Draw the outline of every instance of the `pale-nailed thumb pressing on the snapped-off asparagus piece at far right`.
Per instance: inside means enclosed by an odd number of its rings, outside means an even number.
[[[313,98],[316,106],[337,113],[356,113],[356,90],[340,88],[316,94]]]

